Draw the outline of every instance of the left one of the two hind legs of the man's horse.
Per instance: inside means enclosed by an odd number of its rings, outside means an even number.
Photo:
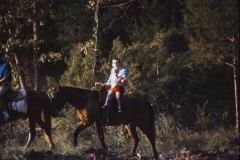
[[[135,156],[137,146],[139,143],[139,138],[138,138],[137,131],[136,131],[136,125],[133,123],[129,123],[129,124],[125,125],[125,127],[128,130],[128,134],[133,141],[134,146],[133,146],[133,150],[132,150],[132,156]]]

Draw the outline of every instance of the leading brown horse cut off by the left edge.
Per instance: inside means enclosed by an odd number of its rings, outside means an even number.
[[[6,94],[2,101],[5,103],[9,114],[9,119],[7,123],[16,121],[18,119],[27,119],[29,123],[29,138],[24,146],[24,149],[27,149],[33,142],[34,137],[36,136],[36,124],[42,129],[43,136],[47,143],[49,144],[49,150],[54,149],[55,145],[51,136],[51,101],[48,94],[45,91],[36,91],[36,90],[21,90],[26,94],[25,96],[17,99],[16,96],[9,97],[9,94]],[[10,91],[17,94],[21,93],[20,91]],[[20,112],[20,109],[17,106],[13,106],[14,102],[26,102],[26,107],[24,112]],[[16,108],[15,108],[16,107]]]

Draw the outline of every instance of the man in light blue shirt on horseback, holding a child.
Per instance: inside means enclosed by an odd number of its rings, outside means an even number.
[[[121,67],[121,61],[119,58],[115,57],[112,59],[112,70],[117,69],[119,70],[118,76],[124,78],[124,81],[122,81],[122,83],[116,83],[114,82],[115,76],[114,73],[111,70],[111,74],[109,76],[109,79],[107,81],[107,83],[99,83],[96,82],[96,85],[102,85],[102,86],[106,86],[106,87],[120,87],[120,97],[123,96],[124,94],[124,86],[128,85],[128,72],[125,68]],[[107,101],[107,112],[106,112],[106,123],[108,123],[108,116],[111,113],[112,107],[114,107],[116,105],[116,94],[112,94]]]

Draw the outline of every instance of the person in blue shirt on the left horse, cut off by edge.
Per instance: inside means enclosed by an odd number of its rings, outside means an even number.
[[[3,112],[3,120],[0,123],[6,123],[9,115],[6,106],[2,101],[3,96],[12,87],[12,69],[9,62],[3,60],[5,53],[0,53],[0,110]]]

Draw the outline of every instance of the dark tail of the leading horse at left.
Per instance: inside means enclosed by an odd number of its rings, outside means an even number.
[[[47,92],[45,91],[39,91],[45,100],[45,103],[43,105],[43,115],[42,115],[42,120],[43,122],[47,125],[48,129],[51,128],[51,101],[50,98],[48,97]]]

